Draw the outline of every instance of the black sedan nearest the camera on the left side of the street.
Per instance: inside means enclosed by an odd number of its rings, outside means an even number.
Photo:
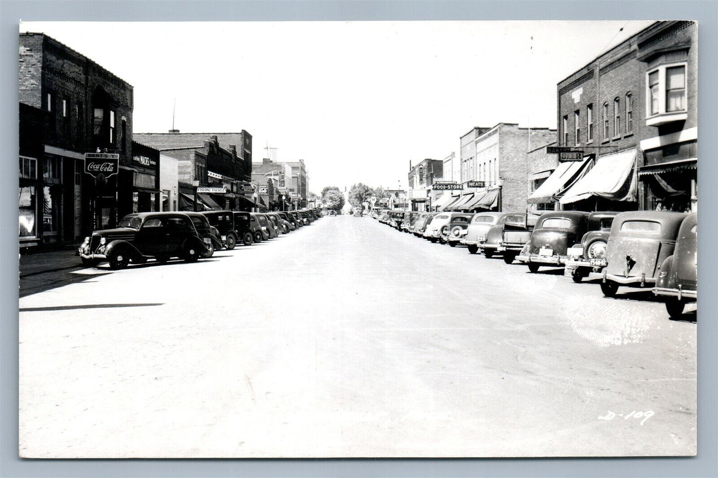
[[[121,269],[149,258],[197,261],[210,245],[211,239],[202,238],[183,212],[137,212],[123,217],[115,229],[93,231],[78,253],[85,266],[107,261],[110,268]]]

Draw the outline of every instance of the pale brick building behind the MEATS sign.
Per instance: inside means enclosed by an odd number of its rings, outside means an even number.
[[[526,210],[528,150],[555,136],[556,130],[519,128],[516,123],[473,128],[460,138],[462,194],[444,204],[444,210]]]

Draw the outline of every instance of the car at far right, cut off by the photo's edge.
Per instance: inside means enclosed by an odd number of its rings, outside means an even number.
[[[653,294],[666,300],[670,317],[683,314],[686,303],[698,299],[698,215],[689,214],[681,222],[673,256],[658,268]]]

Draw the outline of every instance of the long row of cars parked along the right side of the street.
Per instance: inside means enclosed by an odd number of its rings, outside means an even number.
[[[565,267],[576,282],[599,281],[605,296],[615,296],[620,286],[650,287],[671,317],[697,299],[695,213],[380,210],[373,217],[432,243],[466,245],[487,258],[501,255],[532,273]]]

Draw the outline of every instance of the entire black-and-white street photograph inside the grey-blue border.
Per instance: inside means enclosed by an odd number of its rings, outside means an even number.
[[[696,455],[699,22],[18,27],[20,457]]]

